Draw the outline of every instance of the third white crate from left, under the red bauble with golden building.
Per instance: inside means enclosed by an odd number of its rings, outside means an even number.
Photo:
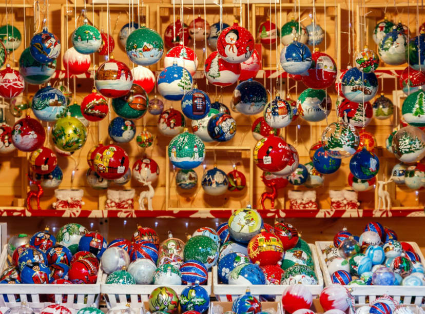
[[[319,259],[317,257],[317,251],[314,244],[308,244],[312,249],[314,269],[316,272],[318,284],[317,285],[305,285],[310,292],[312,292],[313,298],[320,295],[320,291],[323,289],[323,276],[320,270]],[[260,295],[268,295],[280,297],[282,296],[283,291],[288,287],[288,285],[251,285],[249,289],[251,294],[258,298]],[[247,286],[239,285],[226,285],[219,284],[218,275],[217,275],[217,266],[213,267],[213,292],[219,301],[233,301],[237,297],[244,295]]]

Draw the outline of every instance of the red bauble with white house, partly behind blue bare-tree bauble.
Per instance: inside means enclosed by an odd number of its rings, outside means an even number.
[[[310,88],[324,89],[335,83],[337,67],[333,58],[323,52],[312,54],[312,66],[302,75],[302,82]]]

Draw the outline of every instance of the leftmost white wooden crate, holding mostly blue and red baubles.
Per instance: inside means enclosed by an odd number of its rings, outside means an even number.
[[[0,269],[3,271],[10,265],[5,245],[0,256]],[[79,310],[86,306],[99,307],[102,275],[102,269],[99,268],[98,280],[95,284],[90,285],[0,284],[0,307],[13,307],[25,302],[36,313],[55,303],[63,304],[71,311]],[[44,295],[54,295],[55,302],[44,302],[46,300]],[[67,297],[67,302],[63,303],[62,298],[65,296]]]

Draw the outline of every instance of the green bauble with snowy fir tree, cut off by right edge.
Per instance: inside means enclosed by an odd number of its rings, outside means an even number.
[[[401,113],[405,122],[412,126],[425,126],[425,92],[422,89],[411,93],[404,100]]]

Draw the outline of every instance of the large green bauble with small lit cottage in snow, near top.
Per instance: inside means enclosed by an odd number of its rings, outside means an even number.
[[[148,66],[160,61],[164,42],[156,31],[142,26],[128,35],[125,50],[131,62]]]

